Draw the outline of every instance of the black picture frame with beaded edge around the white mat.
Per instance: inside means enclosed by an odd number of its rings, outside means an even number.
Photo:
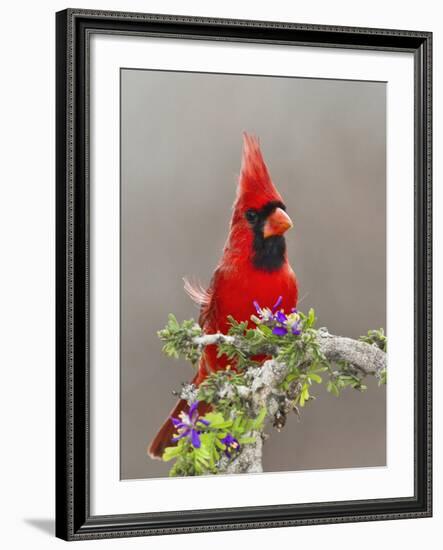
[[[415,64],[413,497],[92,516],[89,506],[89,39],[94,33],[412,52]],[[432,33],[68,9],[56,14],[56,535],[160,535],[432,515]]]

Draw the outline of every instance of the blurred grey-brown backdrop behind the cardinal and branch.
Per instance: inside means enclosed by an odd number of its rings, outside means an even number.
[[[242,131],[260,137],[295,227],[287,234],[318,326],[385,327],[386,86],[380,82],[121,72],[121,478],[167,475],[146,456],[192,367],[167,359],[169,312],[198,317],[182,277],[207,284],[227,236]],[[322,387],[271,431],[265,471],[386,464],[386,392]]]

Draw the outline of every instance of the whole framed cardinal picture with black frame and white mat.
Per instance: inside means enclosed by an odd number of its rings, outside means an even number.
[[[430,516],[431,33],[56,17],[57,536]]]

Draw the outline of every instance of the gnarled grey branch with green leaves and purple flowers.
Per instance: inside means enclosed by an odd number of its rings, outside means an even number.
[[[259,317],[251,318],[253,329],[231,319],[228,334],[204,334],[192,320],[179,324],[170,316],[159,332],[165,353],[172,357],[182,355],[196,364],[206,346],[217,345],[232,367],[213,372],[198,388],[183,386],[181,398],[193,412],[174,419],[178,443],[163,457],[176,461],[171,475],[261,472],[266,431],[271,425],[281,430],[291,412],[300,415],[313,399],[313,385],[326,378],[327,390],[339,396],[347,387],[366,389],[366,376],[385,383],[382,329],[355,340],[315,329],[313,310],[278,316],[268,309],[258,311]],[[257,355],[269,359],[257,364]],[[198,415],[200,401],[211,406],[210,413]]]

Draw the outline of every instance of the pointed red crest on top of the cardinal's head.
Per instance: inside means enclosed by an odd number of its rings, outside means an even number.
[[[269,175],[257,137],[243,132],[243,156],[236,205],[261,208],[268,202],[283,202]]]

